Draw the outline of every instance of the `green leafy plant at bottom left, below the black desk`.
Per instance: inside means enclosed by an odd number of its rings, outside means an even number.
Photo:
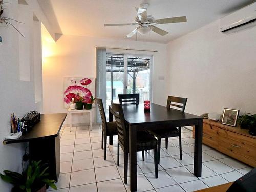
[[[28,168],[22,172],[12,172],[10,170],[4,170],[5,175],[0,174],[1,179],[14,185],[13,192],[34,192],[45,185],[49,185],[53,189],[57,189],[54,184],[54,180],[49,179],[49,168],[44,165],[40,165],[40,161],[32,161]]]

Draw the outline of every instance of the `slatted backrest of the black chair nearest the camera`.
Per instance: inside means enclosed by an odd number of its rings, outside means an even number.
[[[121,104],[113,103],[111,101],[112,111],[114,112],[114,116],[116,119],[116,126],[117,126],[117,133],[118,133],[118,140],[120,140],[124,147],[128,147],[128,132],[127,127],[125,124],[125,119],[123,115],[123,108]]]

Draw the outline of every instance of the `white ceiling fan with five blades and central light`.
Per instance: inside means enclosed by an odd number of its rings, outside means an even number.
[[[125,26],[125,25],[139,25],[136,29],[134,29],[131,33],[126,35],[125,37],[130,38],[135,35],[137,32],[144,35],[149,33],[150,31],[154,31],[159,35],[166,35],[168,34],[167,31],[164,31],[154,25],[150,24],[169,24],[169,23],[179,23],[179,22],[186,22],[187,18],[185,16],[182,17],[170,17],[170,18],[163,18],[155,20],[153,16],[147,15],[147,8],[148,4],[141,4],[139,8],[136,8],[137,17],[135,18],[134,23],[127,23],[127,24],[104,24],[104,26]]]

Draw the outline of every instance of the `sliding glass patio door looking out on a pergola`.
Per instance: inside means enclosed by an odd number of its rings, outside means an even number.
[[[106,106],[119,102],[118,94],[139,94],[140,103],[151,99],[151,56],[106,54]]]

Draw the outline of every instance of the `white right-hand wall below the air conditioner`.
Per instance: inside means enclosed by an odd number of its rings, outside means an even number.
[[[229,35],[218,20],[168,43],[168,93],[187,97],[186,111],[256,112],[256,27]]]

